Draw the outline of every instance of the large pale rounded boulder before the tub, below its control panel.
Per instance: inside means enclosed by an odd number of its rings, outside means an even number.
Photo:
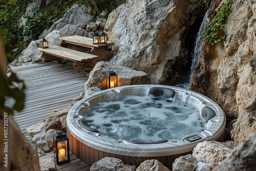
[[[218,163],[230,157],[232,149],[225,147],[217,141],[204,141],[197,144],[193,150],[193,156],[198,162],[207,164]]]

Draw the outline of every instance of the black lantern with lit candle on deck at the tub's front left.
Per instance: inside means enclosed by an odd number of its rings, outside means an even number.
[[[57,164],[70,162],[69,138],[63,129],[58,129],[53,135],[54,157]]]

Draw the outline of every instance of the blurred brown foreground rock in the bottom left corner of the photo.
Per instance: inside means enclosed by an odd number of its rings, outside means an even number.
[[[1,58],[1,57],[0,57]],[[0,117],[4,118],[4,112],[0,111]],[[3,120],[2,120],[3,121]],[[4,140],[4,122],[0,123],[0,135],[3,138],[0,139],[0,170],[11,171],[20,170],[27,171],[40,170],[39,159],[37,155],[37,150],[35,146],[32,146],[28,139],[19,130],[18,124],[13,120],[11,115],[8,115],[8,152],[5,152],[6,141]],[[8,154],[8,162],[5,162],[5,155]],[[8,163],[8,167],[4,166]]]

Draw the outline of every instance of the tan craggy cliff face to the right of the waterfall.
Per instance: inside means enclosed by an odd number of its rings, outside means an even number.
[[[256,4],[249,0],[232,4],[224,30],[228,35],[226,42],[203,45],[202,57],[190,84],[191,90],[216,101],[228,119],[238,117],[233,131],[235,146],[244,141],[253,122],[246,114],[245,104],[255,82],[252,77],[255,62],[250,62],[256,53],[255,24],[250,26],[252,18],[256,18],[255,9]]]

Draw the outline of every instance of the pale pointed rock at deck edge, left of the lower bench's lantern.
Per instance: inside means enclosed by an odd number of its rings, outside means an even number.
[[[20,53],[20,56],[16,58],[11,65],[12,66],[21,66],[24,63],[29,63],[31,61],[35,61],[41,58],[42,52],[37,48],[40,45],[40,40],[31,41],[29,46]]]

